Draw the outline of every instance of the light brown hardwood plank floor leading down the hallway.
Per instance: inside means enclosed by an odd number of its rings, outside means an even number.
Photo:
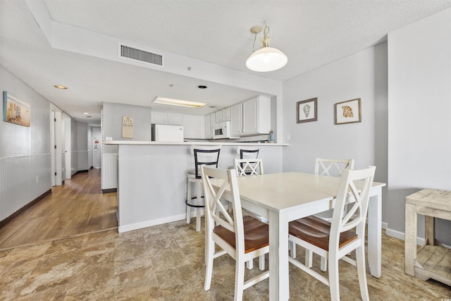
[[[116,192],[102,194],[100,169],[77,173],[0,229],[0,250],[118,227]]]

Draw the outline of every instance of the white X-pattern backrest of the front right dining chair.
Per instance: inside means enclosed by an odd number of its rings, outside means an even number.
[[[353,171],[343,170],[330,226],[329,251],[338,250],[340,233],[354,227],[357,227],[357,235],[364,239],[369,190],[373,184],[374,171],[376,166]],[[354,202],[347,204],[345,212],[348,198],[353,199]]]

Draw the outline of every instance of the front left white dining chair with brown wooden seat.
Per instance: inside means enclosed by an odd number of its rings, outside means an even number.
[[[269,277],[269,271],[264,271],[245,281],[245,262],[269,252],[268,225],[252,216],[242,215],[240,191],[233,169],[202,166],[202,179],[206,205],[204,289],[210,289],[214,259],[229,254],[236,261],[234,300],[242,300],[246,288]],[[218,184],[221,187],[214,188],[212,180],[221,181]],[[228,200],[232,203],[233,214],[221,203],[226,189],[230,190]],[[215,252],[215,245],[221,247],[221,250]]]

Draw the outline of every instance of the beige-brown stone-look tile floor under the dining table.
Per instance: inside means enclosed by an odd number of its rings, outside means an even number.
[[[382,245],[382,276],[368,276],[371,300],[451,298],[449,286],[404,274],[402,240],[384,234]],[[194,223],[104,231],[0,251],[0,300],[233,300],[234,265],[227,255],[215,259],[206,292],[204,233]],[[357,271],[346,262],[340,263],[340,295],[360,300]],[[290,297],[330,299],[326,285],[292,265]],[[245,290],[244,300],[268,300],[268,280]]]

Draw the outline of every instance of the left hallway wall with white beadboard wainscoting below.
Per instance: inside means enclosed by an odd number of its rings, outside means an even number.
[[[0,221],[51,189],[50,103],[0,66],[4,91],[30,104],[31,125],[0,121]]]

